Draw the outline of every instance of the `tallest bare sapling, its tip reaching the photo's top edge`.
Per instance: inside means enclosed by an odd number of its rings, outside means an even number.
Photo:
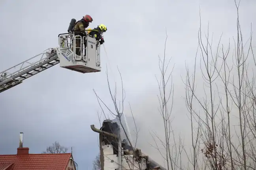
[[[222,44],[222,52],[220,54],[220,58],[222,59],[222,70],[219,73],[220,79],[224,85],[224,95],[225,95],[225,100],[221,101],[221,105],[223,108],[223,112],[227,114],[228,116],[228,123],[227,125],[223,126],[223,135],[226,138],[226,144],[228,147],[228,156],[229,156],[229,161],[230,161],[230,166],[231,169],[233,170],[235,166],[238,166],[239,168],[240,165],[243,165],[243,169],[247,169],[247,163],[246,163],[246,154],[245,154],[245,139],[246,139],[246,113],[245,113],[245,100],[247,98],[246,96],[246,62],[247,62],[247,55],[244,53],[244,44],[243,44],[243,39],[242,39],[242,33],[240,29],[240,22],[239,22],[239,4],[237,4],[235,0],[235,6],[237,10],[237,41],[235,41],[235,38],[233,38],[234,44],[235,44],[235,50],[233,52],[233,55],[230,55],[230,43],[228,44],[227,50],[224,51],[224,47]],[[250,41],[250,46],[251,46],[251,41]],[[248,52],[250,51],[250,48]],[[229,57],[230,55],[230,57]],[[228,60],[231,61],[233,58],[233,65],[228,64]],[[236,68],[235,69],[233,69]],[[233,71],[233,72],[232,72]],[[233,73],[233,75],[232,75]],[[233,76],[233,80],[231,80],[230,76]],[[236,78],[236,80],[235,80]],[[238,83],[237,83],[238,82]],[[233,92],[232,92],[233,90]],[[230,114],[231,114],[231,109],[232,105],[235,106],[235,108],[238,111],[239,115],[239,128],[240,128],[240,135],[237,134],[237,137],[239,142],[239,146],[235,146],[235,142],[232,141],[232,135],[231,135],[231,122],[230,122]],[[226,124],[226,123],[225,123]],[[234,129],[235,130],[235,129]],[[242,154],[239,150],[242,150]],[[232,150],[235,150],[234,154]],[[234,158],[237,157],[237,159]],[[236,163],[234,163],[234,161]],[[237,168],[238,168],[237,167]]]

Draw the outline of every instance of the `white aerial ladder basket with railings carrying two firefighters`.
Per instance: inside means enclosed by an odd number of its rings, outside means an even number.
[[[81,73],[101,71],[100,42],[89,35],[75,34],[58,35],[59,48],[56,53],[60,59],[60,67]]]

